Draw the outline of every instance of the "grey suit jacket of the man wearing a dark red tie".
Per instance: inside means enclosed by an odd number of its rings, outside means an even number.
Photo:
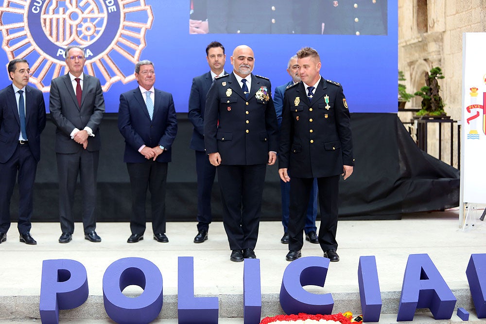
[[[83,95],[81,107],[78,105],[76,94],[71,84],[69,74],[65,74],[51,81],[49,95],[49,110],[56,128],[56,153],[76,153],[83,149],[81,144],[71,139],[74,128],[83,130],[91,128],[94,136],[88,136],[87,151],[99,151],[100,123],[104,113],[103,90],[100,80],[84,74]]]

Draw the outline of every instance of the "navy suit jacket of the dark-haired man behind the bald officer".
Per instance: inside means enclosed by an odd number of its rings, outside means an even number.
[[[204,73],[192,79],[188,112],[189,120],[194,125],[190,145],[192,150],[204,151],[204,111],[206,107],[206,95],[211,84],[211,72]]]

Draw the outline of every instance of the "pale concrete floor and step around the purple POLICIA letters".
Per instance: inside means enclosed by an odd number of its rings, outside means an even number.
[[[337,239],[341,261],[330,264],[324,288],[306,287],[315,293],[332,293],[333,313],[361,312],[358,287],[360,256],[375,256],[382,291],[382,317],[379,323],[396,323],[403,274],[410,254],[428,254],[457,298],[456,307],[472,311],[470,323],[486,323],[474,317],[474,307],[466,277],[471,254],[486,253],[486,227],[477,221],[467,230],[459,227],[458,212],[449,210],[416,213],[393,221],[340,221]],[[0,244],[0,323],[40,322],[39,295],[42,261],[73,259],[87,270],[89,297],[75,309],[63,310],[60,323],[114,323],[106,315],[103,304],[102,280],[106,268],[123,257],[143,257],[160,269],[163,276],[164,305],[154,323],[176,323],[177,317],[177,257],[194,258],[194,293],[196,296],[218,296],[221,323],[243,323],[243,262],[229,261],[229,247],[223,224],[210,225],[209,239],[200,244],[192,242],[195,222],[167,224],[169,243],[152,238],[147,224],[144,240],[128,244],[128,223],[98,223],[101,243],[84,239],[82,224],[76,223],[73,240],[57,242],[58,223],[34,223],[31,234],[35,246],[18,241],[16,224]],[[278,296],[287,245],[280,243],[283,234],[279,222],[261,222],[255,253],[260,259],[262,317],[282,314]],[[322,256],[318,244],[304,243],[302,256]],[[141,289],[129,286],[123,292],[138,295]],[[418,310],[413,323],[455,323],[434,321],[428,310]]]

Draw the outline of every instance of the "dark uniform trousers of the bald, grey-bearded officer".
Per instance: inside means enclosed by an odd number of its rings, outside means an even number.
[[[229,248],[254,249],[260,225],[266,165],[220,165],[217,169]]]

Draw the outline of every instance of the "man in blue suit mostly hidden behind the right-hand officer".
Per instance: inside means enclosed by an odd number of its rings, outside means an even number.
[[[275,112],[277,113],[277,121],[278,127],[281,126],[282,123],[282,108],[283,108],[283,95],[285,93],[285,89],[293,85],[295,83],[300,82],[300,76],[298,73],[299,66],[297,64],[297,55],[294,55],[290,58],[288,66],[287,66],[287,73],[291,76],[292,80],[286,83],[285,85],[279,85],[275,88],[274,94],[274,105],[275,105]],[[289,199],[290,199],[290,183],[283,182],[280,180],[280,193],[282,196],[282,225],[283,225],[283,236],[280,239],[282,244],[289,244],[289,233],[287,232],[288,224],[289,224]],[[305,220],[305,239],[310,241],[311,243],[317,244],[319,243],[319,239],[317,238],[317,227],[315,227],[315,219],[317,217],[317,180],[314,179],[312,183],[311,189],[311,198],[309,199],[309,205],[307,206],[307,217]]]

